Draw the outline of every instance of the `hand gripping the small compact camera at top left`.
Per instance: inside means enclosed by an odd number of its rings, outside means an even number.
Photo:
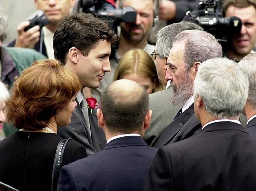
[[[18,36],[15,42],[15,47],[24,47],[24,48],[34,48],[36,42],[39,41],[40,37],[40,27],[36,25],[35,27],[30,28],[26,32],[24,28],[29,26],[29,21],[24,21],[19,24],[17,27]]]

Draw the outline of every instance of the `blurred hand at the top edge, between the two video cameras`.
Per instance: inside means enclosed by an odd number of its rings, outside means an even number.
[[[158,16],[159,19],[171,20],[175,17],[176,5],[173,1],[162,0],[158,5]]]

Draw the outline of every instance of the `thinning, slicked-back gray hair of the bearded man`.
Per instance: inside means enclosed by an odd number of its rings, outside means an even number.
[[[174,43],[185,42],[184,61],[189,70],[195,62],[204,62],[211,58],[222,57],[222,48],[210,33],[201,30],[186,30],[177,34]]]

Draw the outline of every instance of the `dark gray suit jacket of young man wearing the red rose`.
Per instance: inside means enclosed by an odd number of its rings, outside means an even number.
[[[58,127],[58,135],[62,138],[72,138],[73,140],[85,146],[87,155],[92,155],[102,150],[106,145],[106,137],[102,128],[98,126],[96,114],[89,114],[89,122],[91,127],[91,136],[86,128],[86,122],[82,109],[77,102],[77,106],[73,111],[71,123],[67,126]]]

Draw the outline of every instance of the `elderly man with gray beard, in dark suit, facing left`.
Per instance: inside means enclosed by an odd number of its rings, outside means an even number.
[[[171,103],[181,106],[172,123],[160,135],[155,147],[160,148],[195,134],[201,124],[194,112],[193,84],[198,66],[222,57],[221,45],[215,37],[201,30],[185,30],[177,34],[167,59],[165,80],[171,80]]]

